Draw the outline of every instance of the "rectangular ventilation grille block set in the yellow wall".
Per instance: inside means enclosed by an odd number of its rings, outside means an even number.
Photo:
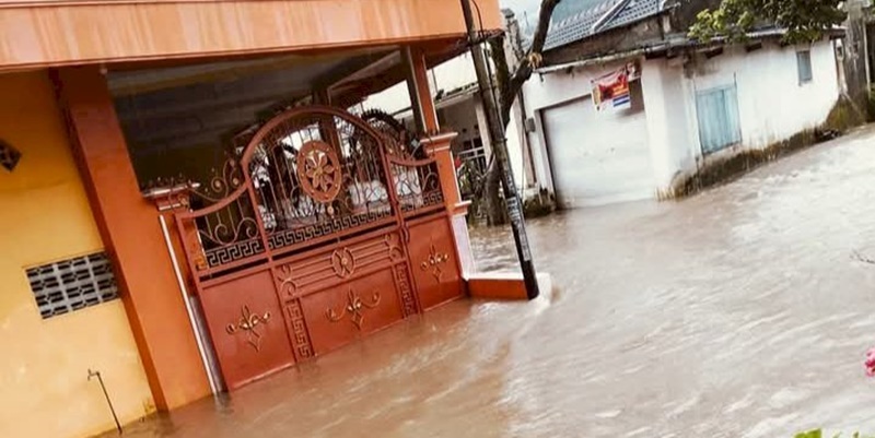
[[[104,252],[31,268],[27,280],[43,319],[118,298]]]

